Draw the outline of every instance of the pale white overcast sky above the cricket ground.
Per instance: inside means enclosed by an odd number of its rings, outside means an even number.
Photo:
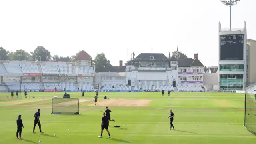
[[[207,1],[207,2],[206,2]],[[232,7],[232,28],[247,23],[256,40],[256,0]],[[0,0],[0,47],[52,56],[84,50],[104,53],[113,66],[140,53],[178,50],[205,66],[218,65],[218,22],[229,28],[229,7],[220,0]]]

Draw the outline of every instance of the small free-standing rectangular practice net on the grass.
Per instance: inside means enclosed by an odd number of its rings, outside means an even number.
[[[79,114],[79,99],[53,98],[52,114]]]

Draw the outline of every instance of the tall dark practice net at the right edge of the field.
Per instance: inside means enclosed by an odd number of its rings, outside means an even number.
[[[254,94],[249,94],[247,90],[245,94],[245,126],[247,130],[256,135],[256,103],[254,101]]]

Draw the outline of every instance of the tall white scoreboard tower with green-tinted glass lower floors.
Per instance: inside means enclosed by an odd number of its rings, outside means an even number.
[[[246,88],[246,22],[244,28],[222,29],[219,22],[218,90]]]

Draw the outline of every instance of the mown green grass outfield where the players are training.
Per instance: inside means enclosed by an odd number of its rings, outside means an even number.
[[[70,92],[72,98],[81,93]],[[81,115],[51,114],[51,98],[61,97],[63,92],[28,92],[29,98],[6,100],[10,93],[0,93],[0,144],[255,144],[256,136],[248,132],[244,124],[244,94],[177,92],[164,97],[155,92],[100,92],[110,100],[151,99],[147,106],[111,106],[108,138],[106,130],[100,135],[100,122],[105,106],[88,106],[82,102]],[[35,99],[31,97],[35,96]],[[85,93],[92,99],[94,93]],[[10,97],[9,97],[10,98]],[[40,101],[41,98],[44,98]],[[230,99],[228,101],[228,99]],[[69,106],[66,106],[67,108]],[[41,108],[40,121],[44,134],[32,133],[34,113]],[[168,130],[169,109],[175,114],[176,130]],[[16,119],[22,114],[24,140],[16,139]],[[235,122],[236,121],[236,122]],[[82,125],[81,125],[82,123]],[[126,124],[126,126],[124,126]],[[120,125],[114,128],[113,125]],[[159,125],[159,126],[157,126]],[[199,125],[199,126],[198,126]],[[70,129],[70,130],[68,130]],[[56,136],[53,136],[56,134]],[[42,140],[42,142],[39,142]]]

